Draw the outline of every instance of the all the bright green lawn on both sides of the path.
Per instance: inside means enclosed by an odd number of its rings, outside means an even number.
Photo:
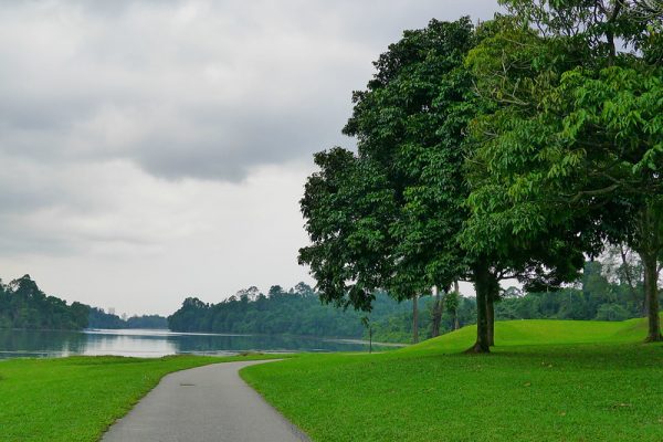
[[[242,376],[314,441],[663,441],[663,346],[640,344],[643,320],[497,323],[492,355],[462,354],[474,334]],[[0,361],[0,441],[93,442],[168,372],[264,358]]]

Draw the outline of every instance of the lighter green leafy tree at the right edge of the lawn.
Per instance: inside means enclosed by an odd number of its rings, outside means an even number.
[[[476,230],[564,229],[592,254],[606,238],[625,241],[645,270],[648,340],[660,340],[662,11],[645,17],[620,0],[503,3],[514,20],[469,56],[477,92],[498,104],[473,126],[473,161],[485,171],[470,198]],[[617,39],[640,52],[620,52]]]

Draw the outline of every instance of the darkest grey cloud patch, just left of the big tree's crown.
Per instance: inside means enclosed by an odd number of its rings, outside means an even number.
[[[338,136],[320,114],[218,110],[219,120],[202,133],[190,128],[190,133],[170,138],[154,134],[143,143],[136,159],[157,176],[241,181],[256,166],[306,157],[312,149],[334,143]]]

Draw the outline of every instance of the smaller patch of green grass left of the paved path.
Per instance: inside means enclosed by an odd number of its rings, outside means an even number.
[[[0,441],[93,442],[167,373],[214,362],[270,359],[171,356],[0,361]]]

